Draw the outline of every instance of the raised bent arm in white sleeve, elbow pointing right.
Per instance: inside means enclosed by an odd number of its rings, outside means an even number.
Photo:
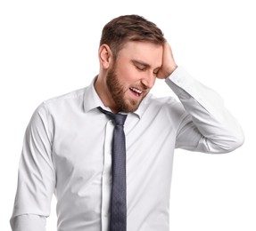
[[[180,67],[166,79],[166,83],[186,110],[179,125],[176,147],[227,153],[244,143],[241,126],[217,92],[196,81]]]

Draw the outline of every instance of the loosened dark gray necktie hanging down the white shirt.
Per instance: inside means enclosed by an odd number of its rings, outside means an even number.
[[[110,231],[127,230],[126,200],[126,143],[123,125],[127,115],[112,114],[99,110],[114,121],[112,139],[112,191],[111,191],[111,224]]]

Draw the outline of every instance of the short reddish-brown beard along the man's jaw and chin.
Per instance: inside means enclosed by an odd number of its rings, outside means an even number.
[[[141,100],[125,98],[125,94],[129,90],[125,90],[120,84],[120,80],[116,75],[115,63],[113,63],[112,68],[106,76],[106,84],[117,111],[134,112],[139,107],[141,101],[145,98],[145,96],[141,98]]]

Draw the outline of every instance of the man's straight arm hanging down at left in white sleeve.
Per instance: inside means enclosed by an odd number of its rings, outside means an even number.
[[[18,187],[11,218],[13,231],[45,231],[55,187],[52,141],[44,106],[37,108],[26,130]]]

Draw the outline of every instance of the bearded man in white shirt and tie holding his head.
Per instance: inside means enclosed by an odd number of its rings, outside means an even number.
[[[178,67],[153,22],[137,15],[111,20],[98,56],[100,71],[92,84],[46,100],[30,120],[12,230],[45,230],[55,194],[59,231],[168,231],[174,149],[219,154],[244,142],[219,95]],[[156,78],[179,101],[154,98],[149,92]],[[126,174],[120,180],[126,187],[124,194],[119,191],[126,200],[121,228],[111,223],[120,222],[122,209],[111,209],[112,182],[120,176],[113,177],[115,123],[105,111],[126,115],[126,167],[117,173]]]

